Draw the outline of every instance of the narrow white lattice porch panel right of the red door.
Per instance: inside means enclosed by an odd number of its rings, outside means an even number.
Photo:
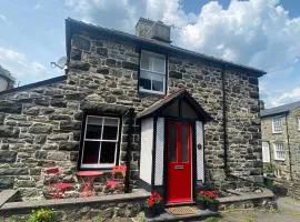
[[[204,182],[203,123],[196,121],[197,180]],[[201,149],[198,145],[201,144]]]

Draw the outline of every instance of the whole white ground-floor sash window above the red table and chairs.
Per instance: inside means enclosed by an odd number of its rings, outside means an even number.
[[[117,162],[118,118],[87,115],[81,168],[111,168]]]

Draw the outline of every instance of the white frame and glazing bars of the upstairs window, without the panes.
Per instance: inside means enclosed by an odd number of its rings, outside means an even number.
[[[147,71],[147,72],[150,72],[152,74],[161,74],[163,75],[163,83],[162,83],[162,91],[156,91],[156,90],[148,90],[148,89],[143,89],[141,88],[140,85],[140,82],[139,82],[139,91],[140,92],[148,92],[148,93],[153,93],[153,94],[164,94],[166,93],[166,82],[167,82],[167,70],[166,70],[166,56],[164,54],[159,54],[159,53],[154,53],[154,52],[151,52],[151,51],[147,51],[147,50],[141,50],[141,59],[142,59],[142,54],[149,54],[149,56],[152,56],[152,57],[158,57],[158,58],[163,58],[164,60],[164,64],[163,64],[163,73],[162,72],[157,72],[157,71],[153,71],[153,68],[152,70],[147,70],[147,69],[142,69],[141,68],[141,62],[140,62],[140,77],[141,78],[141,71]],[[152,89],[152,79],[151,79],[151,89]]]

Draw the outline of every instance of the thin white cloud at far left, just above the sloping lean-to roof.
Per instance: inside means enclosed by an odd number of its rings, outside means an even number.
[[[33,81],[40,81],[53,75],[62,74],[59,70],[50,70],[44,64],[38,61],[31,61],[26,54],[0,47],[0,64],[9,70],[12,75],[20,81],[21,84],[27,84]]]

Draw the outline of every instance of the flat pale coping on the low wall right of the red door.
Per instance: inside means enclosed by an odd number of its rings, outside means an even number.
[[[220,203],[242,202],[254,199],[273,199],[274,194],[272,191],[263,189],[261,193],[242,193],[241,195],[232,195],[228,198],[220,198]]]

